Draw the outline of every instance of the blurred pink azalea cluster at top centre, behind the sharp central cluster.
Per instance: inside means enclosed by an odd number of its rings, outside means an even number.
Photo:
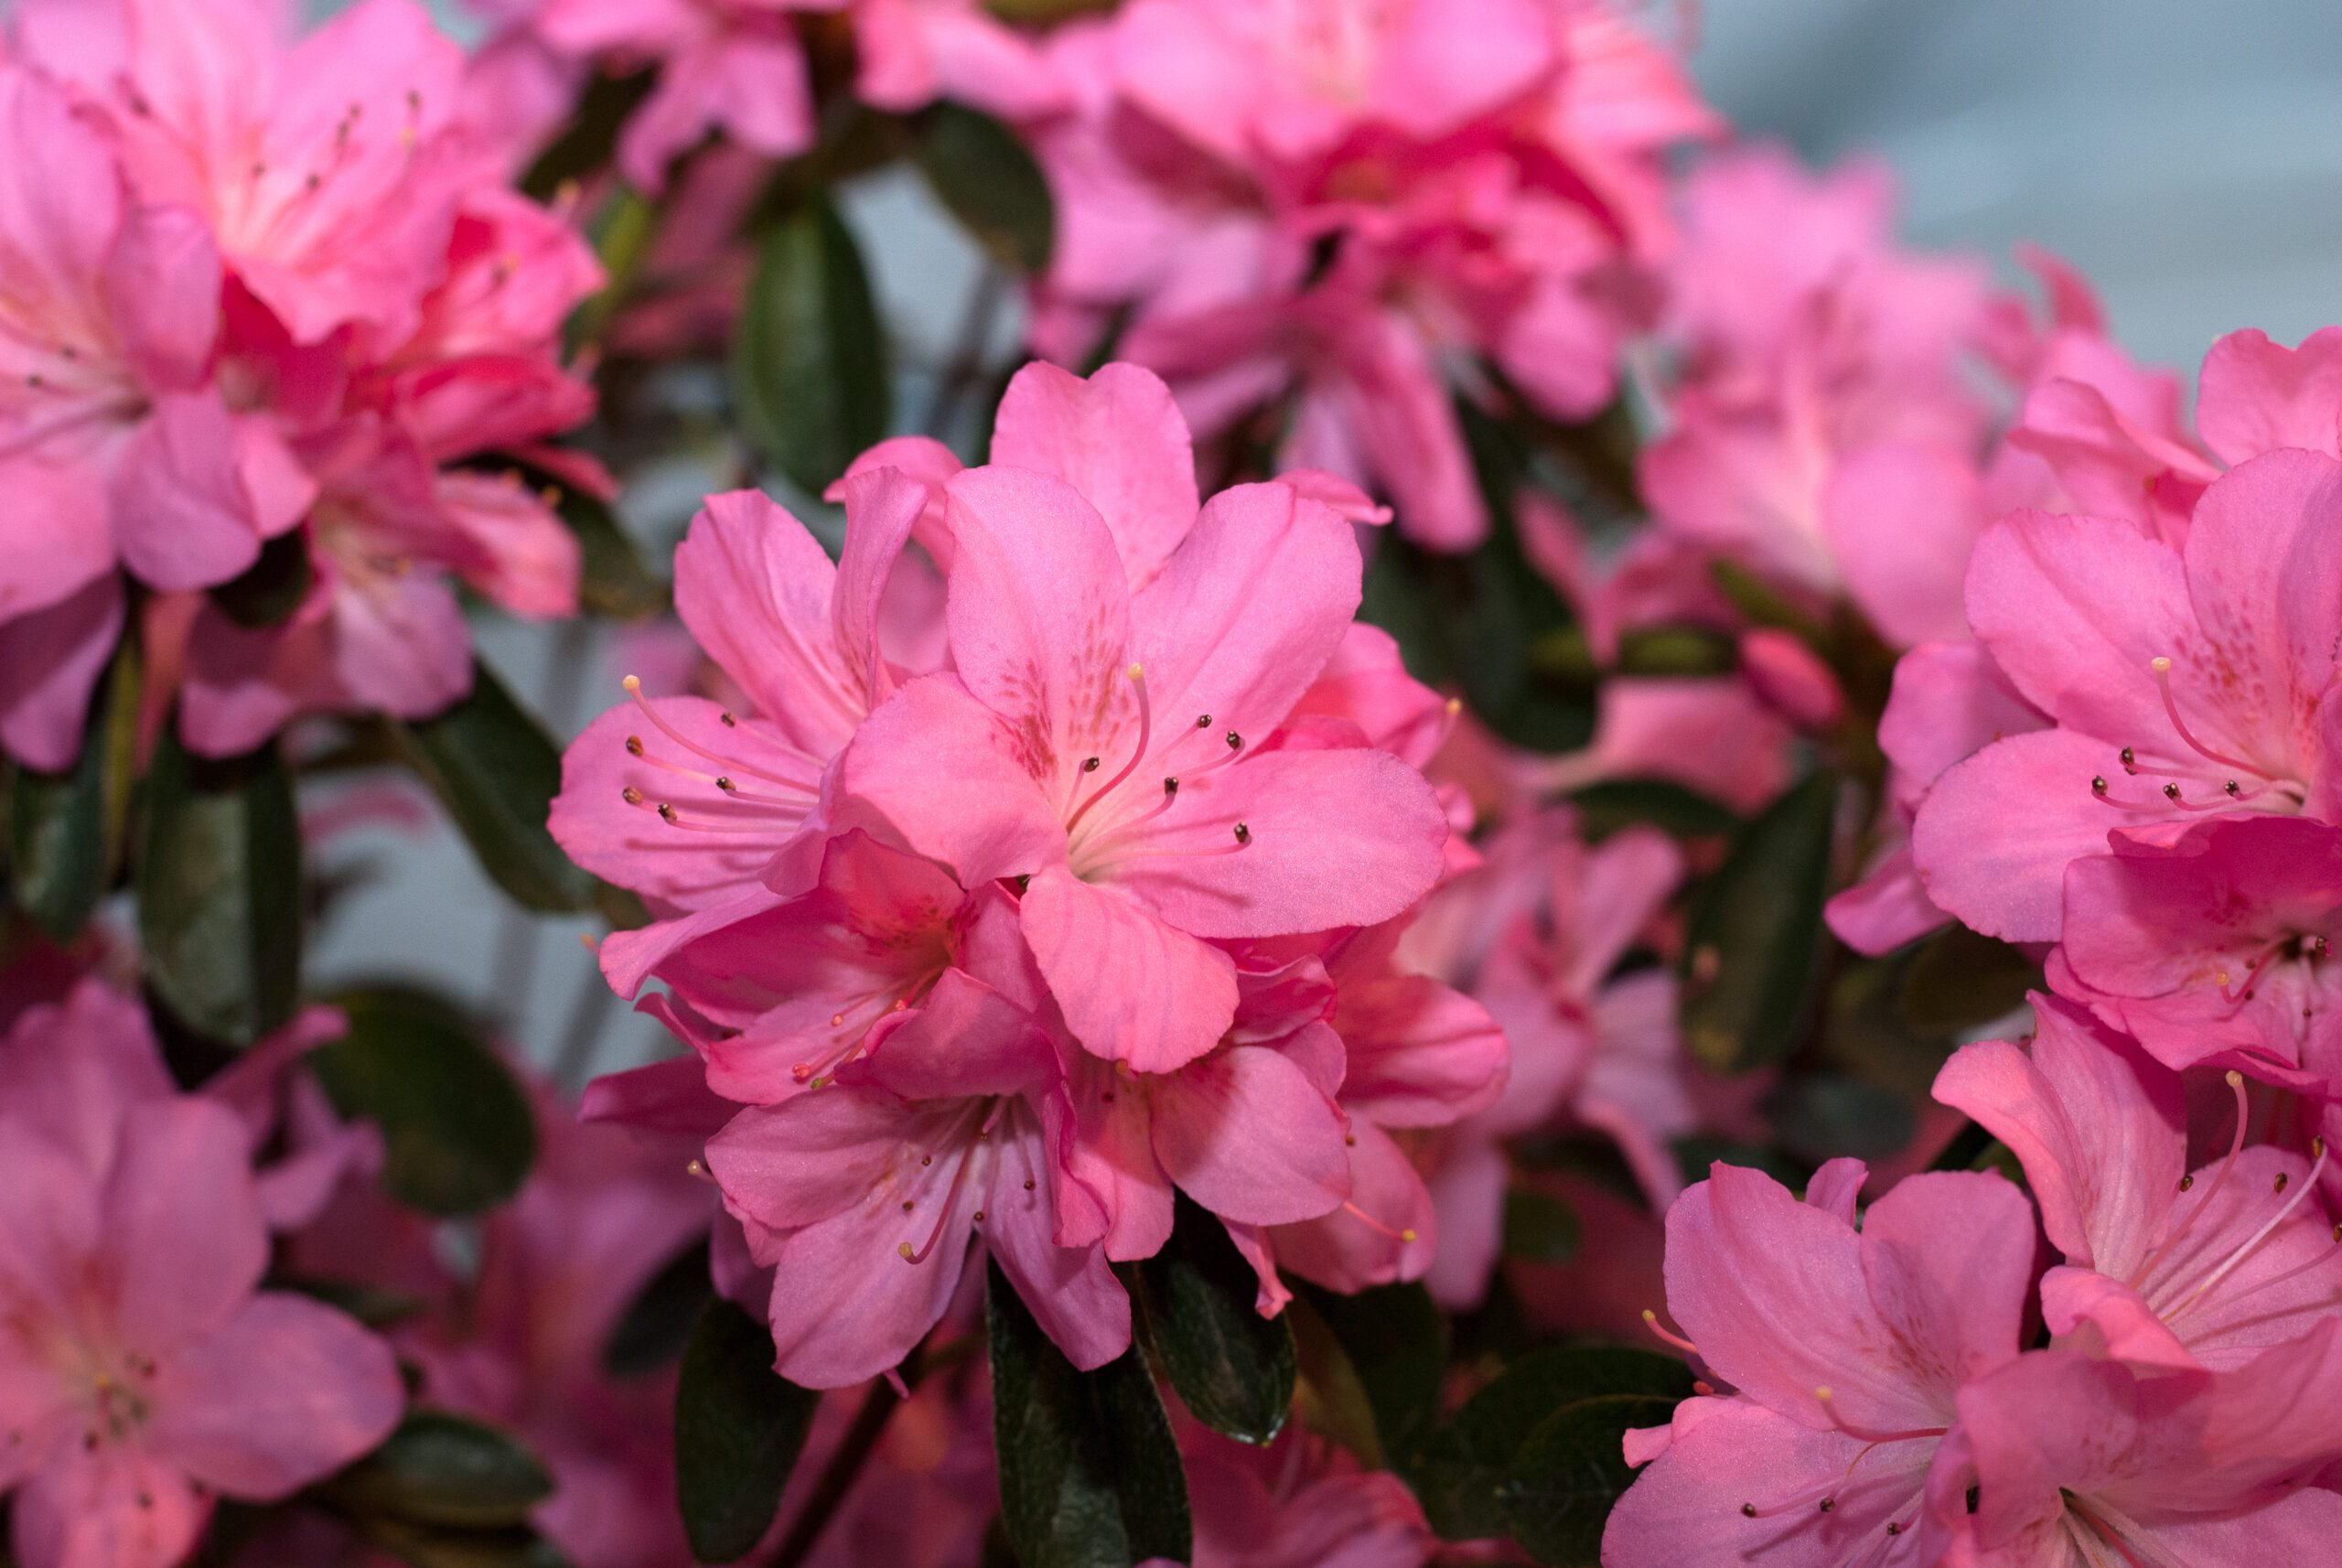
[[[1035,346],[1103,339],[1199,435],[1490,531],[1452,398],[1586,419],[1649,325],[1665,154],[1721,131],[1675,54],[1581,0],[1141,0],[1049,37],[1061,232]]]

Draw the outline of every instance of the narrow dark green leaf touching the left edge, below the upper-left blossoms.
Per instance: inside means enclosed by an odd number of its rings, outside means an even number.
[[[138,644],[115,653],[66,772],[19,768],[9,784],[7,875],[16,906],[52,941],[89,924],[122,861],[138,777]]]

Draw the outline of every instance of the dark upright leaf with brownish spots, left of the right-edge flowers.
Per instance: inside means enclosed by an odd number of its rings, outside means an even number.
[[[1749,821],[1693,903],[1684,941],[1684,1044],[1717,1072],[1796,1048],[1822,969],[1838,779],[1813,772]]]

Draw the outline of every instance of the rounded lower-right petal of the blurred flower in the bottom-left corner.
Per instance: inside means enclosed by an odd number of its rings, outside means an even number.
[[[403,1411],[386,1343],[330,1306],[262,1292],[162,1364],[148,1442],[204,1486],[272,1500],[379,1444]]]

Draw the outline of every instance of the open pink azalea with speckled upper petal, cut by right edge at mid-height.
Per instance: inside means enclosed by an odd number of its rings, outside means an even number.
[[[1911,854],[1937,906],[2007,941],[2061,931],[2066,866],[2204,812],[2335,819],[2342,466],[2272,452],[2197,503],[2185,550],[2019,513],[1977,545],[1967,613],[2049,721],[1934,782]]]

